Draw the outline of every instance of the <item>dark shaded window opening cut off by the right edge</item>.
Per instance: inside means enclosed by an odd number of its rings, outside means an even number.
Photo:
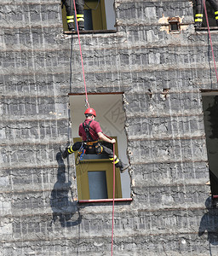
[[[204,129],[209,161],[209,181],[212,196],[218,195],[218,91],[202,93]]]

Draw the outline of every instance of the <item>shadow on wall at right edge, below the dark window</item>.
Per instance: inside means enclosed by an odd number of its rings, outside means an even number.
[[[218,208],[211,200],[211,197],[205,201],[208,212],[201,219],[198,236],[202,236],[207,232],[209,245],[218,246]]]

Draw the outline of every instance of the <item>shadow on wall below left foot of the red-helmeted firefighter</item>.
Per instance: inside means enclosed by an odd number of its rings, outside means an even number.
[[[56,160],[58,162],[57,181],[50,196],[50,206],[53,211],[51,224],[59,220],[62,227],[72,227],[80,224],[82,217],[77,201],[73,201],[72,183],[66,180],[66,166],[60,153],[56,154]]]

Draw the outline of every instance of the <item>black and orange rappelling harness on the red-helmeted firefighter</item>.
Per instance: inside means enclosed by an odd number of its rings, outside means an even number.
[[[83,129],[86,134],[86,141],[82,143],[81,147],[78,150],[76,158],[76,166],[80,164],[80,161],[83,160],[84,154],[101,154],[103,147],[100,145],[99,141],[95,141],[90,134],[90,129],[96,133],[96,131],[90,127],[90,124],[93,120],[89,121],[89,124],[83,122]]]

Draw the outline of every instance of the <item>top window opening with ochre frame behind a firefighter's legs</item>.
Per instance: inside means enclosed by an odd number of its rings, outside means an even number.
[[[84,32],[115,31],[115,9],[113,0],[86,0],[83,15]],[[69,32],[66,22],[65,5],[62,6],[62,22],[64,32]],[[74,19],[74,24],[77,24],[76,19]],[[76,26],[75,28],[77,29]],[[83,33],[83,31],[81,32]]]

